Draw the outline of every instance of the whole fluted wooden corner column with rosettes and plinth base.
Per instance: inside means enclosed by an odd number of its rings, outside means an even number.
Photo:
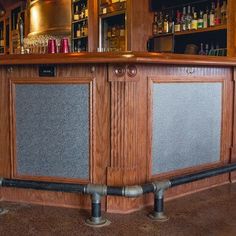
[[[107,184],[137,184],[146,176],[146,158],[142,155],[140,80],[135,66],[111,66],[111,162]],[[145,133],[145,131],[144,131]],[[131,211],[139,199],[108,197],[108,211]]]

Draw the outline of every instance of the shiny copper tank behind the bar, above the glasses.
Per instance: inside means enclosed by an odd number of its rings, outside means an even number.
[[[70,34],[71,0],[28,0],[28,36]]]

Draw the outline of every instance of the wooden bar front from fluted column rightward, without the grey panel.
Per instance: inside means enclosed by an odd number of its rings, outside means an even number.
[[[129,65],[111,65],[111,166],[109,185],[127,185],[167,179],[196,171],[222,166],[230,162],[232,139],[233,80],[230,68],[136,65],[137,75],[129,75]],[[118,70],[119,69],[119,70]],[[116,72],[121,72],[120,74]],[[150,81],[164,83],[221,83],[222,115],[220,160],[159,175],[151,174],[152,108]],[[124,96],[126,94],[126,96]],[[129,101],[129,102],[128,102]],[[132,111],[132,112],[131,112]],[[131,122],[132,121],[132,122]],[[131,123],[132,124],[131,124]],[[137,127],[136,127],[137,125]],[[129,127],[132,127],[130,132]],[[133,135],[137,135],[136,139]],[[133,143],[131,144],[131,140]],[[138,145],[137,143],[138,142]],[[129,145],[129,143],[131,145]],[[138,150],[138,152],[135,152]],[[124,153],[126,155],[124,155]],[[191,158],[191,157],[190,157]],[[136,161],[135,161],[136,160]],[[128,175],[126,175],[127,173]],[[229,182],[229,174],[209,178],[168,190],[168,198],[199,191]],[[108,197],[109,211],[131,211],[152,204],[153,197],[135,200]]]

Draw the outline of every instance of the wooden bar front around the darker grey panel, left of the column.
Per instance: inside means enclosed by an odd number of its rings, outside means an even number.
[[[57,67],[57,75],[55,78],[40,78],[38,77],[38,66],[37,65],[27,65],[27,66],[10,66],[8,67],[8,76],[4,76],[7,84],[2,83],[1,78],[1,89],[4,89],[4,93],[1,93],[1,101],[6,101],[10,97],[9,93],[9,81],[14,81],[14,83],[81,83],[88,80],[94,81],[91,87],[91,109],[94,110],[93,116],[91,117],[91,132],[92,132],[92,146],[93,150],[93,160],[91,161],[91,180],[93,183],[106,183],[106,167],[109,162],[109,139],[110,139],[110,100],[109,100],[109,83],[106,79],[106,66],[104,65],[61,65]],[[1,73],[5,73],[7,67],[1,68]],[[33,78],[33,79],[32,79]],[[84,80],[85,79],[85,80]],[[7,89],[6,89],[6,86]],[[3,99],[2,99],[3,98]],[[7,102],[4,106],[9,106]],[[7,108],[6,108],[7,109]],[[7,118],[1,120],[1,125],[9,124],[9,110],[7,109],[5,115]],[[2,117],[1,117],[2,118]],[[7,130],[7,135],[9,135],[9,128]],[[2,134],[2,132],[1,132]],[[9,141],[9,140],[8,140]],[[3,140],[1,140],[0,145],[3,145]],[[13,145],[12,145],[13,146]],[[8,144],[9,148],[9,144]],[[4,149],[1,149],[1,151]],[[4,165],[0,165],[0,171],[6,172],[6,177],[10,178],[13,176],[13,169],[10,169],[10,153],[8,151],[5,154],[5,160],[8,168],[4,168]],[[6,165],[5,165],[6,166]],[[12,172],[12,175],[11,175]],[[34,179],[34,180],[44,180],[43,178],[30,177],[30,176],[15,176],[19,179]],[[78,182],[83,183],[81,180],[69,180],[55,178],[48,178],[47,181],[61,181],[61,182]],[[21,189],[2,189],[2,198],[8,199],[9,201],[22,201],[31,203],[40,203],[45,205],[57,205],[57,206],[67,206],[67,207],[80,207],[88,208],[90,203],[89,196],[80,196],[66,193],[50,193],[46,191],[34,191],[34,190],[21,190]],[[103,208],[105,206],[103,200]]]

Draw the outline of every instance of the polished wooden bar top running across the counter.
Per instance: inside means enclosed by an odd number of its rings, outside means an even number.
[[[2,55],[0,65],[27,64],[168,64],[168,65],[205,65],[236,66],[236,57],[213,57],[199,55],[115,52],[115,53],[68,53],[68,54],[25,54]]]

